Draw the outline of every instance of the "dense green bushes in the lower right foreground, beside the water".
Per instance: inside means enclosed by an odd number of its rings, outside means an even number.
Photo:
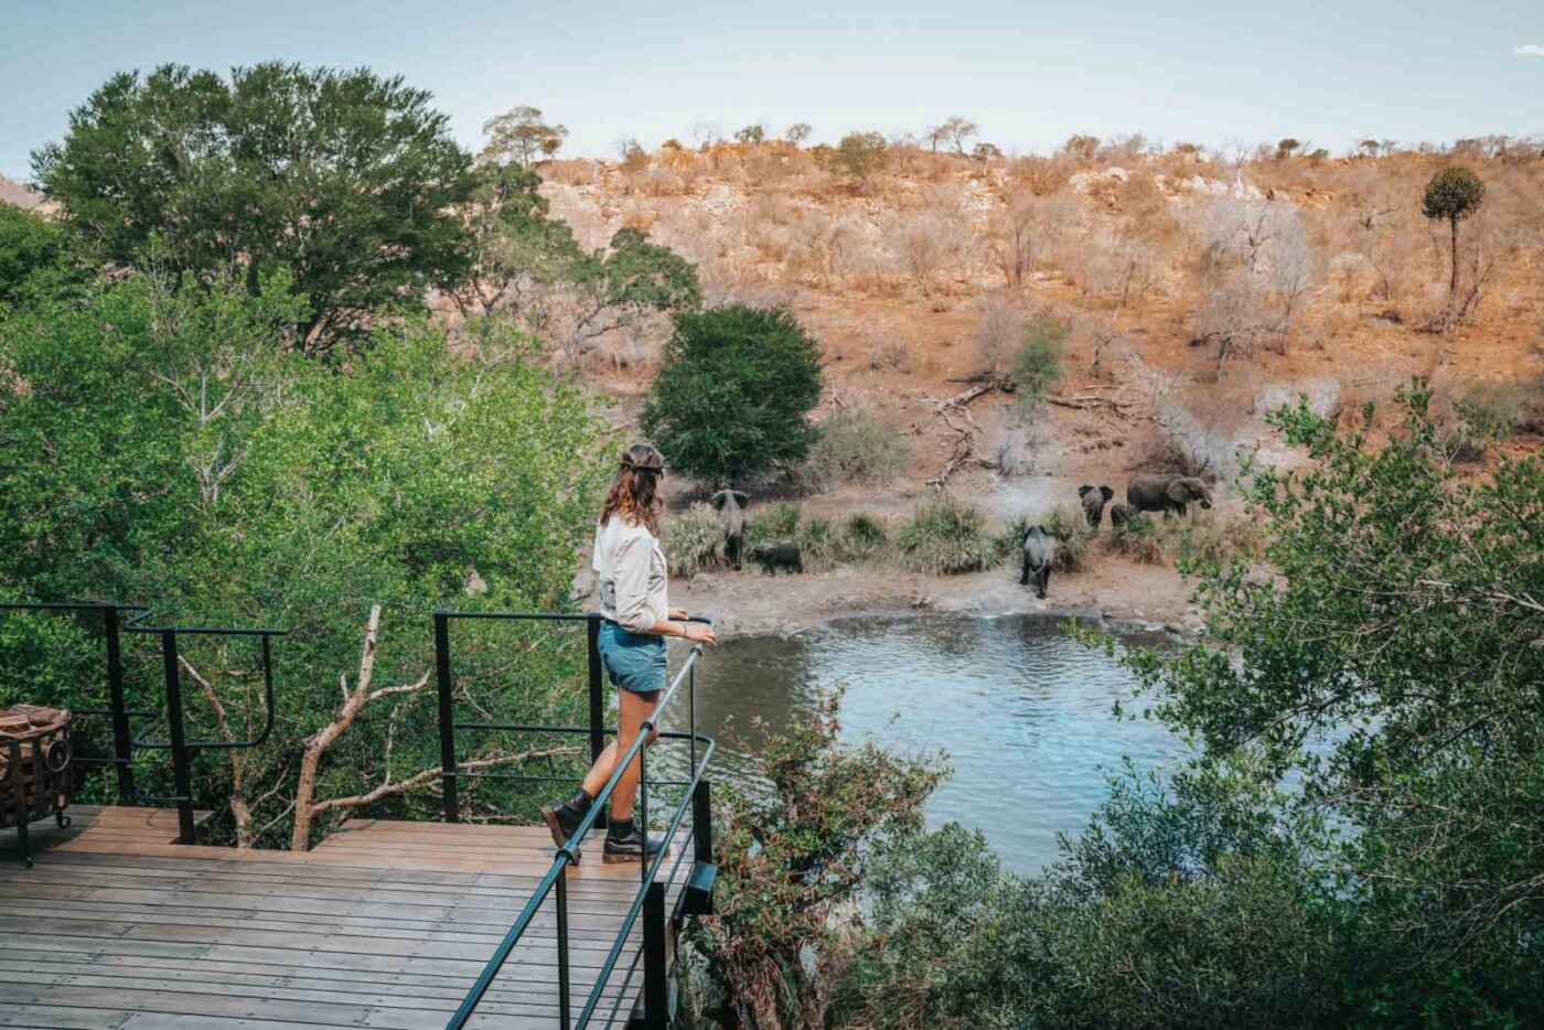
[[[1380,449],[1306,406],[1274,417],[1317,459],[1249,486],[1278,576],[1197,565],[1209,636],[1127,653],[1155,717],[1204,752],[1163,780],[1113,775],[1045,872],[1005,872],[956,825],[917,831],[937,767],[877,764],[871,780],[834,701],[783,737],[777,788],[735,803],[753,818],[723,866],[732,900],[699,937],[698,1011],[894,1028],[1544,1019],[1544,670],[1527,645],[1544,468],[1468,477],[1430,392],[1402,403]],[[789,783],[818,784],[823,808]],[[875,791],[894,823],[863,822]],[[755,828],[821,840],[815,825],[862,840],[865,906],[840,879],[817,891],[808,866],[766,860]]]

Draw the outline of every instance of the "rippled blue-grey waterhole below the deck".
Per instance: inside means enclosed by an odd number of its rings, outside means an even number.
[[[1124,645],[1161,645],[1122,638]],[[673,662],[684,650],[673,655]],[[747,752],[848,684],[843,737],[900,752],[948,752],[954,775],[928,805],[933,826],[980,829],[1004,865],[1033,872],[1056,859],[1107,795],[1106,771],[1173,764],[1184,746],[1164,726],[1127,715],[1135,684],[1116,658],[1044,616],[846,618],[794,638],[740,636],[709,650],[698,672],[703,732],[718,740],[712,778],[743,780]],[[686,698],[667,729],[684,729]]]

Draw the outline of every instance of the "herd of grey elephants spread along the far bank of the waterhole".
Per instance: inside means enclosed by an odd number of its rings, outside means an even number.
[[[1095,533],[1104,522],[1106,505],[1113,499],[1115,491],[1109,486],[1085,485],[1078,488],[1082,514]],[[746,507],[750,499],[738,490],[720,490],[709,503],[718,513],[718,523],[724,531],[724,556],[730,565],[741,568],[746,544]],[[1124,527],[1133,511],[1161,511],[1166,516],[1172,511],[1183,517],[1186,507],[1192,503],[1203,508],[1212,507],[1212,491],[1195,476],[1138,473],[1126,483],[1126,503],[1110,508],[1110,525]],[[1051,565],[1056,564],[1056,537],[1044,525],[1031,525],[1024,531],[1021,551],[1024,564],[1019,585],[1027,587],[1033,581],[1034,596],[1044,598],[1051,582]],[[750,561],[760,565],[763,573],[777,573],[780,568],[792,573],[804,571],[798,544],[787,540],[757,547],[750,551]]]

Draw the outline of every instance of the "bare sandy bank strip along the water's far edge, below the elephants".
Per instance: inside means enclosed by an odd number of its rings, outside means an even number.
[[[1055,573],[1044,601],[1002,565],[963,576],[843,567],[829,573],[766,576],[699,573],[670,584],[670,604],[718,619],[721,636],[791,635],[851,613],[954,612],[968,615],[1079,615],[1135,629],[1192,633],[1200,615],[1173,568],[1102,556],[1082,573]]]

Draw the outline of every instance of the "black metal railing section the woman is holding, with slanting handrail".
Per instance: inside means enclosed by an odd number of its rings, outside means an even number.
[[[588,650],[588,681],[590,681],[590,726],[588,727],[562,727],[562,726],[517,726],[510,723],[489,723],[489,721],[457,721],[454,717],[454,672],[451,662],[451,622],[455,619],[514,619],[514,621],[584,621],[587,624],[587,650]],[[693,622],[712,624],[710,619],[692,618]],[[446,822],[455,822],[460,815],[455,806],[455,783],[465,774],[459,772],[455,767],[455,730],[525,730],[525,732],[587,732],[590,735],[590,752],[591,761],[599,758],[601,752],[605,749],[607,727],[604,724],[604,684],[601,675],[601,658],[596,645],[598,635],[601,629],[599,615],[531,615],[531,613],[513,613],[513,612],[435,612],[434,615],[434,639],[435,639],[435,670],[438,676],[438,703],[440,703],[440,755],[442,755],[442,783],[445,786],[445,818]],[[686,661],[681,669],[672,678],[659,701],[655,704],[653,712],[644,720],[638,738],[618,757],[616,769],[607,780],[605,786],[594,797],[590,811],[581,820],[579,826],[574,829],[573,835],[564,843],[547,874],[537,883],[536,891],[527,900],[525,906],[516,916],[514,923],[510,927],[508,933],[499,942],[494,950],[493,957],[488,959],[483,967],[482,974],[472,984],[466,998],[462,1001],[455,1015],[446,1024],[448,1030],[459,1030],[466,1025],[471,1019],[477,1005],[482,1002],[483,994],[493,985],[494,977],[503,968],[510,954],[519,945],[520,939],[527,930],[536,920],[537,913],[542,905],[547,903],[548,897],[554,899],[557,910],[557,1008],[559,1008],[559,1025],[562,1030],[577,1030],[587,1027],[599,1008],[605,988],[610,984],[618,965],[622,959],[624,948],[631,934],[633,927],[638,919],[644,920],[642,931],[642,948],[633,954],[625,977],[621,988],[615,993],[611,1002],[611,1016],[615,1018],[618,1007],[627,998],[627,988],[630,987],[633,976],[636,974],[638,962],[644,964],[644,1024],[647,1027],[662,1028],[667,1022],[669,1008],[669,968],[667,968],[667,934],[669,923],[665,916],[665,894],[667,883],[673,882],[676,872],[679,871],[681,862],[686,859],[687,851],[681,849],[670,866],[669,876],[661,880],[659,874],[664,869],[667,859],[670,857],[670,843],[679,832],[687,809],[692,811],[692,837],[693,848],[692,856],[698,866],[712,868],[712,795],[709,781],[703,778],[703,772],[707,767],[709,760],[713,755],[713,740],[696,732],[696,662],[703,655],[703,645],[696,644],[687,653]],[[681,693],[682,684],[686,686],[686,696],[689,704],[689,730],[687,732],[659,732],[659,740],[684,740],[689,744],[690,763],[687,766],[687,775],[684,780],[673,780],[656,783],[655,786],[676,786],[684,788],[681,803],[675,808],[670,820],[665,826],[661,848],[655,856],[650,856],[647,848],[639,857],[639,886],[633,896],[631,905],[625,916],[622,917],[621,928],[618,930],[610,950],[607,951],[605,961],[602,962],[599,971],[596,973],[596,982],[590,988],[579,1010],[579,1015],[573,1015],[573,990],[571,990],[571,970],[570,970],[570,940],[568,940],[568,885],[567,885],[567,869],[570,865],[579,862],[579,845],[593,828],[601,825],[604,818],[604,809],[607,800],[610,800],[611,792],[621,781],[622,775],[627,772],[633,760],[638,760],[638,809],[639,809],[639,826],[647,837],[650,829],[648,820],[648,760],[647,752],[650,746],[650,737],[655,737],[659,718],[670,703]],[[523,780],[547,780],[550,777],[511,777]],[[709,883],[710,889],[710,883]],[[610,1019],[608,1019],[610,1022]]]

